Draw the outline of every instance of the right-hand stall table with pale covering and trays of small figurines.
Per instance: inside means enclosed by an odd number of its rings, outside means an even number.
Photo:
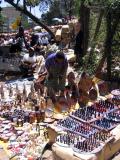
[[[119,151],[119,107],[109,113],[102,111],[97,117],[94,112],[94,117],[93,106],[73,111],[53,127],[59,132],[52,147],[55,159],[107,160]]]

